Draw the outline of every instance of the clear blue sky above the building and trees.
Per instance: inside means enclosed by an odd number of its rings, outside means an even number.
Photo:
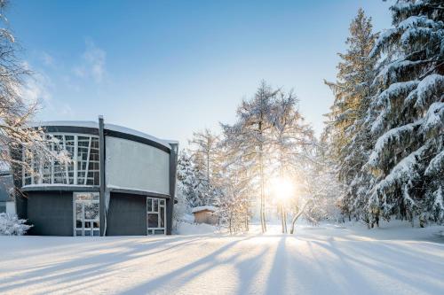
[[[294,89],[317,134],[337,52],[359,7],[379,31],[390,1],[31,1],[7,13],[36,73],[39,120],[97,120],[186,144],[232,123],[265,79]]]

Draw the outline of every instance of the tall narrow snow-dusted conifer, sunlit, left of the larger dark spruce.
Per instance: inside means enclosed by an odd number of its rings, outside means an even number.
[[[337,175],[345,186],[342,205],[345,214],[368,221],[363,208],[367,190],[372,183],[370,175],[361,167],[369,158],[372,137],[366,124],[369,109],[370,85],[375,77],[376,58],[370,57],[376,37],[372,33],[371,18],[362,9],[350,24],[348,49],[339,53],[337,82],[326,82],[335,94],[329,116],[329,141]]]

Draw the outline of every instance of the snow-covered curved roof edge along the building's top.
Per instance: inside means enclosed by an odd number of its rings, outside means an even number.
[[[49,127],[49,126],[68,126],[68,127],[85,127],[85,128],[99,128],[99,122],[92,121],[92,120],[53,120],[53,121],[42,121],[42,122],[35,122],[30,124],[31,127]],[[107,124],[105,123],[105,129],[122,132],[125,134],[130,134],[131,136],[139,136],[142,138],[146,138],[148,140],[151,140],[157,144],[162,144],[168,149],[171,149],[170,142],[172,141],[166,141],[163,139],[159,139],[155,136],[147,135],[146,133],[140,132],[138,130],[134,130],[131,128],[126,128],[119,125],[114,124]]]

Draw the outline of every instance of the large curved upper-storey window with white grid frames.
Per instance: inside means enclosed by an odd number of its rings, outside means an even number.
[[[99,185],[99,137],[53,134],[51,151],[67,151],[70,161],[37,159],[24,151],[24,160],[36,172],[24,171],[23,184]]]

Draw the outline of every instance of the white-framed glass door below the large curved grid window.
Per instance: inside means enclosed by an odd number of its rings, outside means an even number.
[[[74,236],[100,236],[98,192],[75,192],[74,212]]]

